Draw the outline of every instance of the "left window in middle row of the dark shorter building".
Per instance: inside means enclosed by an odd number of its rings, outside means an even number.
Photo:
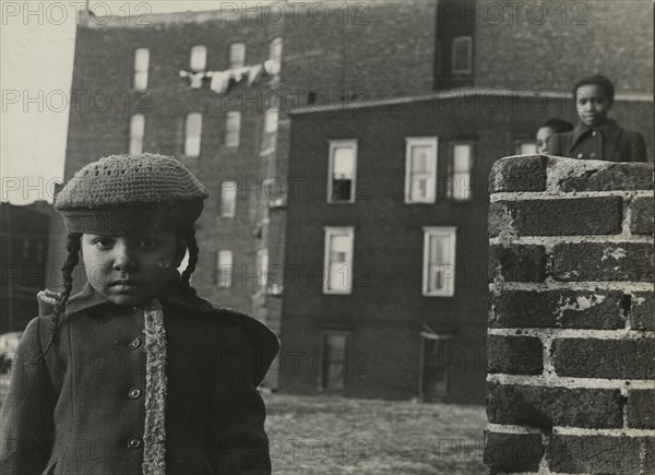
[[[326,227],[323,294],[350,294],[355,228]]]

